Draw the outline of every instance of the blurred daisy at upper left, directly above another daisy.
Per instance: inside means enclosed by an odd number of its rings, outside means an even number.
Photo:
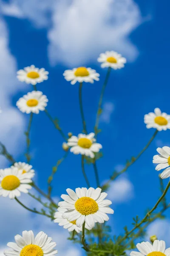
[[[37,68],[34,65],[30,67],[24,67],[23,70],[17,71],[17,79],[21,82],[26,82],[27,84],[37,84],[48,79],[48,71],[44,68]]]

